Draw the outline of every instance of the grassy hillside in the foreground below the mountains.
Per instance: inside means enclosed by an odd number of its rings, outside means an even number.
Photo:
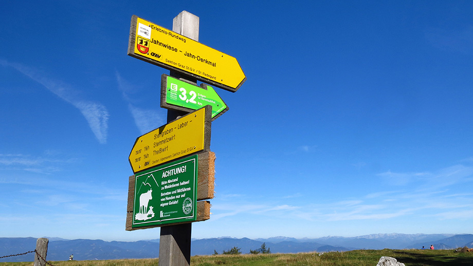
[[[375,266],[381,256],[394,257],[406,266],[471,266],[473,252],[454,253],[451,250],[356,250],[348,252],[264,254],[264,255],[216,255],[194,256],[192,266]],[[101,261],[51,261],[55,266],[158,266],[158,259],[125,259]],[[32,262],[3,262],[0,266],[31,266]]]

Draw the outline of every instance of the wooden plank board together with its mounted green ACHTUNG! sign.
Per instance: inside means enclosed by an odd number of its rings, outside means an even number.
[[[197,160],[192,162],[194,158],[197,158]],[[195,201],[197,202],[193,205],[195,206],[195,211],[190,210],[190,203],[186,202],[190,198],[189,195],[187,197],[180,197],[184,193],[191,192],[191,189],[188,189],[186,186],[189,178],[182,172],[184,167],[186,170],[191,170],[191,167],[186,165],[186,163],[190,163],[190,165],[195,163],[197,166],[197,182],[195,184]],[[175,169],[179,168],[181,170],[177,173]],[[165,177],[163,178],[163,176]],[[125,230],[132,231],[210,219],[210,202],[206,200],[213,198],[214,182],[215,154],[211,151],[186,157],[175,163],[157,166],[131,176],[129,179]],[[179,195],[178,198],[176,198],[177,195]],[[169,209],[170,203],[171,205],[178,206],[178,208],[182,208],[182,212],[187,210],[189,212],[187,215],[192,212],[192,217],[171,216],[173,213],[180,212],[180,210]]]

